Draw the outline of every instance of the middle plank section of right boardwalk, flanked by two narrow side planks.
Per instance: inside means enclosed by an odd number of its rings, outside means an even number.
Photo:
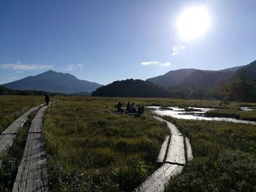
[[[170,146],[167,153],[166,162],[173,164],[185,164],[184,138],[179,135],[170,137]]]

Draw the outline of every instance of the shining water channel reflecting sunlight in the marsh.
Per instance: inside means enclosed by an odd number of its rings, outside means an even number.
[[[209,110],[214,110],[211,108],[198,108],[198,107],[188,107],[189,112],[184,108],[180,107],[158,107],[158,106],[148,106],[148,109],[152,110],[157,115],[170,116],[178,119],[187,120],[217,120],[217,121],[228,121],[233,123],[247,123],[256,125],[256,121],[249,120],[238,120],[235,118],[209,118],[204,114]]]

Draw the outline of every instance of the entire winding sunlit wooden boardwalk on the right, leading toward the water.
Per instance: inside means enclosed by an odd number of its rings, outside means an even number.
[[[185,148],[184,148],[184,136],[178,131],[178,128],[167,120],[153,117],[156,120],[167,123],[167,127],[170,130],[170,136],[165,137],[165,141],[162,144],[157,162],[164,163],[156,172],[151,174],[148,179],[140,185],[136,191],[165,191],[165,184],[170,177],[181,173],[185,161]],[[170,142],[169,142],[170,137]],[[187,146],[187,160],[191,161],[193,158],[192,148],[189,139],[185,138]],[[169,145],[168,145],[169,144]],[[165,159],[166,156],[166,159]]]

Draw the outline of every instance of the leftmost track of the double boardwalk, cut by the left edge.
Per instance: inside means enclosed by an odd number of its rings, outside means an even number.
[[[23,124],[26,122],[31,112],[37,111],[39,107],[42,107],[42,105],[44,104],[40,104],[39,106],[33,107],[29,111],[25,112],[20,118],[15,120],[0,134],[0,155],[2,155],[10,146],[12,146],[15,135],[17,134],[18,130],[23,127]]]

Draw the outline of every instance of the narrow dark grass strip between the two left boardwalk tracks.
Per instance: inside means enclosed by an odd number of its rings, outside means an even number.
[[[29,118],[26,120],[26,123],[24,123],[23,128],[20,128],[16,134],[12,147],[0,156],[0,191],[12,191],[16,174],[18,172],[18,166],[20,166],[23,150],[26,145],[26,138],[34,115],[35,112],[29,115]]]

